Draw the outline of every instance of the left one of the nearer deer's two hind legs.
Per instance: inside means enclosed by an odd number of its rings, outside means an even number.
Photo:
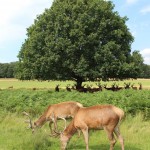
[[[116,139],[114,137],[113,130],[112,129],[107,129],[106,127],[104,128],[104,130],[106,131],[106,133],[108,135],[108,139],[110,141],[110,150],[113,150],[114,145],[116,143]]]

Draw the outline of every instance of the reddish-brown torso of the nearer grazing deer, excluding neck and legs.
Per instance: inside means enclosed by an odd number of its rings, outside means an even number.
[[[80,108],[74,118],[74,125],[77,128],[84,126],[92,129],[103,128],[106,125],[116,126],[124,112],[112,105],[97,105],[87,108]]]

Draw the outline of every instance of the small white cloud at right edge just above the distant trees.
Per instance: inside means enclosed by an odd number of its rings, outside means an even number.
[[[144,58],[144,63],[150,65],[150,48],[145,48],[140,53]]]

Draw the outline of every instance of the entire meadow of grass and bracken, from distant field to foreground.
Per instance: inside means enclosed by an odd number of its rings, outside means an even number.
[[[0,80],[0,150],[59,150],[59,138],[49,136],[48,123],[35,134],[27,130],[24,123],[26,117],[22,115],[27,111],[33,120],[36,120],[48,105],[62,101],[78,101],[84,106],[96,104],[113,104],[122,108],[126,118],[121,125],[121,133],[125,139],[126,150],[149,150],[150,142],[150,80],[130,80],[138,86],[143,84],[143,90],[120,90],[118,92],[106,91],[96,93],[67,92],[65,86],[73,84],[72,81],[18,81]],[[60,92],[55,92],[56,84],[61,84]],[[89,82],[88,84],[95,84]],[[108,85],[111,85],[109,82]],[[123,86],[123,82],[119,82]],[[9,88],[13,86],[13,88]],[[33,88],[36,88],[36,90]],[[60,121],[59,124],[62,122]],[[69,122],[68,122],[69,123]],[[90,131],[90,150],[107,150],[109,141],[104,131]],[[68,144],[70,150],[84,150],[83,136],[73,136]],[[115,150],[120,150],[117,142]]]

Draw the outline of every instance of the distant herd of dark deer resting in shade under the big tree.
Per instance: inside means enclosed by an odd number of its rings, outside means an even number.
[[[78,92],[84,92],[84,93],[94,93],[94,92],[98,92],[98,91],[102,91],[103,88],[106,89],[106,90],[111,90],[111,91],[119,91],[121,89],[133,89],[133,90],[142,90],[142,84],[141,83],[138,83],[139,84],[139,87],[136,87],[134,86],[134,83],[131,84],[130,82],[129,83],[124,83],[124,87],[119,87],[118,84],[116,83],[113,83],[111,85],[111,87],[107,87],[107,84],[104,84],[102,85],[101,83],[96,83],[96,85],[98,86],[98,88],[92,88],[92,85],[86,85],[84,84],[83,86],[81,86],[80,88],[77,88],[76,85],[70,87],[70,84],[68,84],[66,86],[66,90],[71,92],[71,90],[77,90]],[[55,91],[56,92],[59,92],[59,86],[60,84],[57,84],[56,87],[55,87]],[[85,87],[86,86],[86,87]]]

